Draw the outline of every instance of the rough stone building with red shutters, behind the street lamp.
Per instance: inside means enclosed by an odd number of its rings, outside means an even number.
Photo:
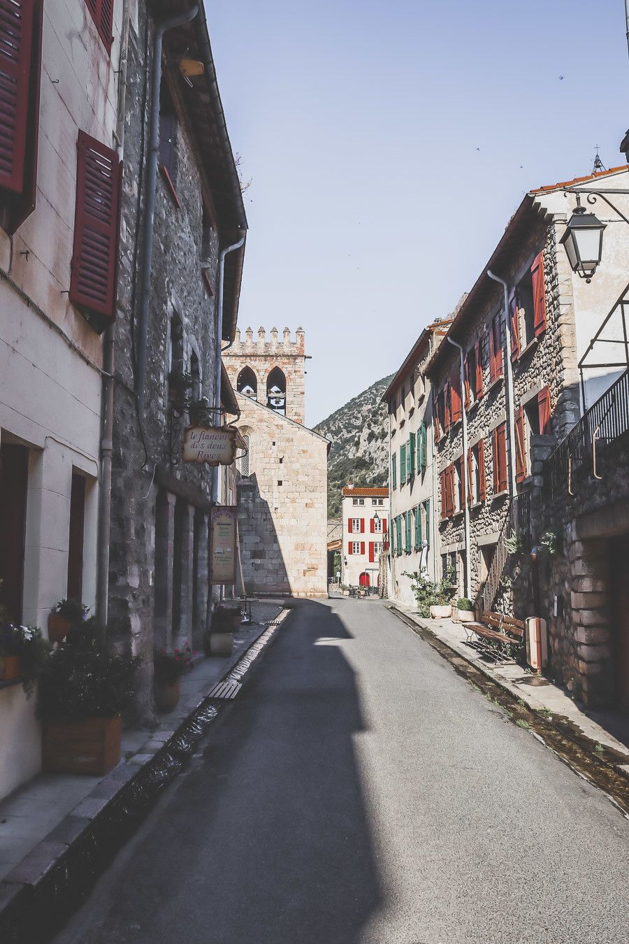
[[[615,199],[626,214],[626,167],[526,194],[449,329],[461,351],[439,346],[427,366],[441,573],[452,568],[458,592],[486,609],[543,616],[551,670],[587,700],[600,699],[602,688],[611,691],[609,605],[601,597],[606,552],[596,545],[596,526],[587,518],[609,502],[590,493],[580,509],[562,498],[554,511],[543,493],[557,443],[570,441],[584,409],[620,382],[617,368],[592,366],[587,355],[604,315],[627,291],[622,260],[629,234],[621,215],[612,208],[604,214],[604,222],[619,225],[607,227],[598,281],[578,278],[560,242],[575,194],[604,187],[620,192]],[[612,340],[618,342],[619,332],[611,329]],[[603,435],[603,415],[601,421]],[[568,463],[565,447],[563,458],[552,460],[557,495],[560,488],[573,491],[571,470],[582,454]],[[615,497],[621,494],[622,487]],[[603,514],[596,516],[603,537],[608,526],[605,531]],[[589,550],[582,543],[586,531],[594,541]],[[562,553],[557,546],[564,541]],[[530,551],[536,545],[534,565]],[[617,652],[624,645],[618,642]]]

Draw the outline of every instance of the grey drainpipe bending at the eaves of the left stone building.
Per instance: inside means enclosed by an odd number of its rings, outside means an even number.
[[[144,384],[146,380],[146,336],[149,322],[149,297],[151,293],[151,263],[153,261],[153,219],[155,217],[155,194],[157,182],[157,153],[159,149],[159,86],[161,85],[161,50],[164,34],[176,26],[190,23],[199,11],[194,4],[185,13],[163,20],[157,24],[153,42],[153,67],[151,75],[151,120],[149,126],[148,160],[146,164],[146,206],[142,223],[141,289],[138,306],[138,372],[136,374],[136,396],[140,414],[144,409]]]

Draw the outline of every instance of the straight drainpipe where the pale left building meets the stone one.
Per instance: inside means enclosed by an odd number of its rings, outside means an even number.
[[[118,103],[116,142],[118,157],[124,157],[124,113],[126,110],[126,64],[129,48],[129,0],[123,0],[123,31],[120,45],[118,73]],[[98,545],[96,548],[96,618],[101,626],[108,622],[109,596],[109,533],[111,522],[111,452],[113,449],[113,370],[114,330],[108,325],[103,339],[103,391],[101,405],[101,468],[98,490]]]

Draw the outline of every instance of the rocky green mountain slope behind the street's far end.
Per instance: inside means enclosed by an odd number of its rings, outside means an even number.
[[[348,480],[355,485],[387,485],[389,426],[382,395],[393,374],[339,407],[316,426],[315,432],[331,440],[327,460],[327,516],[340,515],[340,489]]]

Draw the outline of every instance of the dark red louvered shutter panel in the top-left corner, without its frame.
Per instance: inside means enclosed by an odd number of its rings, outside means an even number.
[[[0,0],[0,187],[24,186],[33,0]]]

